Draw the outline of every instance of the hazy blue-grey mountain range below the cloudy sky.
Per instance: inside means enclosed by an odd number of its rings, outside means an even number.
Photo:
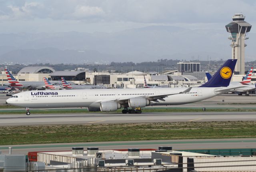
[[[0,34],[2,62],[83,63],[84,61],[143,62],[160,58],[183,60],[228,59],[228,33],[189,30],[174,26],[148,26],[115,33],[59,32]],[[256,60],[256,34],[246,40],[246,61]]]

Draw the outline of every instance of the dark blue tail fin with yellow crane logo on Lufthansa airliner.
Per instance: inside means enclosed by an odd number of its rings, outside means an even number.
[[[237,59],[227,60],[212,78],[199,87],[227,87],[232,78]]]

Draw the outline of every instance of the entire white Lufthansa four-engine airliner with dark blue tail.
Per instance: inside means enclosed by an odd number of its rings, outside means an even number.
[[[6,103],[26,108],[87,107],[89,111],[141,113],[140,108],[156,105],[188,104],[205,100],[234,88],[227,88],[236,59],[227,60],[210,81],[200,87],[189,88],[131,88],[93,90],[42,90],[14,94]],[[130,109],[128,109],[130,108]]]

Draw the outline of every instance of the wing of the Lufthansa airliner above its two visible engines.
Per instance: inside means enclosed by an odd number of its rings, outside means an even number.
[[[145,98],[145,99],[150,100],[150,101],[158,102],[158,100],[164,101],[164,98],[166,98],[167,96],[171,96],[171,95],[174,95],[174,94],[182,94],[182,93],[185,93],[185,92],[190,92],[191,89],[192,89],[192,87],[188,87],[188,88],[186,88],[186,90],[184,90],[182,92],[177,91],[177,92],[173,92],[173,93],[170,93],[170,94],[154,94],[152,96],[135,96],[134,95],[134,97],[129,96],[129,97],[122,97],[122,98],[109,98],[109,99],[98,100],[95,103],[116,101],[120,104],[123,104],[125,102],[128,102],[129,98],[136,98],[136,97]]]

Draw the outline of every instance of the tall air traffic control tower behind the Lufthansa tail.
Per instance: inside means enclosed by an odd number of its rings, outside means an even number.
[[[245,40],[248,39],[247,34],[252,28],[244,18],[243,14],[235,14],[233,21],[226,25],[226,30],[230,33],[228,39],[231,40],[232,59],[237,59],[235,74],[244,74],[244,48],[247,46]]]

